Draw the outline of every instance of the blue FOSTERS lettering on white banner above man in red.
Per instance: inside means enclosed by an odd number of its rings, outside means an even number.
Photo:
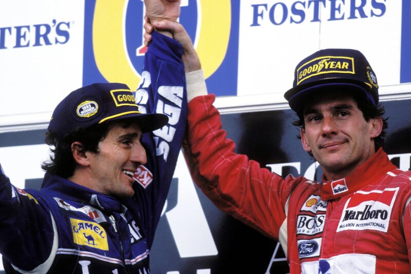
[[[328,15],[327,21],[381,17],[386,12],[385,3],[382,2],[385,0],[363,0],[359,5],[356,0],[308,0],[292,3],[254,4],[251,5],[252,24],[250,26],[261,26],[266,22],[272,25],[301,24],[306,19],[310,22],[320,22],[320,15],[324,12]]]

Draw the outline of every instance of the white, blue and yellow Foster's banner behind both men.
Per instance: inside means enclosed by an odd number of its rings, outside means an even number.
[[[47,123],[53,106],[83,85],[137,88],[146,50],[142,0],[1,5],[0,129]],[[323,48],[362,51],[382,93],[411,82],[408,0],[182,0],[179,21],[209,90],[242,97],[235,101],[241,105],[253,97],[256,104],[285,102],[295,65]],[[24,94],[18,104],[16,94]]]

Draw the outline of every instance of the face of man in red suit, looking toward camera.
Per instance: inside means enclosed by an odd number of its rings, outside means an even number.
[[[303,115],[304,150],[312,152],[327,180],[346,177],[375,153],[382,119],[367,122],[352,96],[321,93],[305,104]]]

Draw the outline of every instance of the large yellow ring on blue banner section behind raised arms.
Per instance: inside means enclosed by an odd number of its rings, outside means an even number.
[[[108,82],[135,90],[140,75],[131,64],[125,43],[125,8],[128,0],[96,0],[92,43],[96,65]],[[230,0],[198,0],[197,53],[206,79],[221,65],[227,53],[231,28]]]

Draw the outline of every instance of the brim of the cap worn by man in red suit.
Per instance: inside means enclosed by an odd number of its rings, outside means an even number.
[[[304,103],[307,101],[309,96],[312,96],[313,93],[323,91],[323,90],[336,90],[339,89],[341,91],[348,90],[348,91],[360,91],[359,93],[362,96],[365,96],[372,104],[376,105],[376,101],[371,95],[370,91],[367,91],[365,87],[366,84],[358,83],[358,82],[330,82],[330,83],[322,83],[317,85],[310,85],[310,86],[301,86],[296,87],[288,90],[284,97],[288,100],[288,104],[290,108],[295,112],[299,112],[303,107]],[[332,91],[330,90],[330,91]]]

